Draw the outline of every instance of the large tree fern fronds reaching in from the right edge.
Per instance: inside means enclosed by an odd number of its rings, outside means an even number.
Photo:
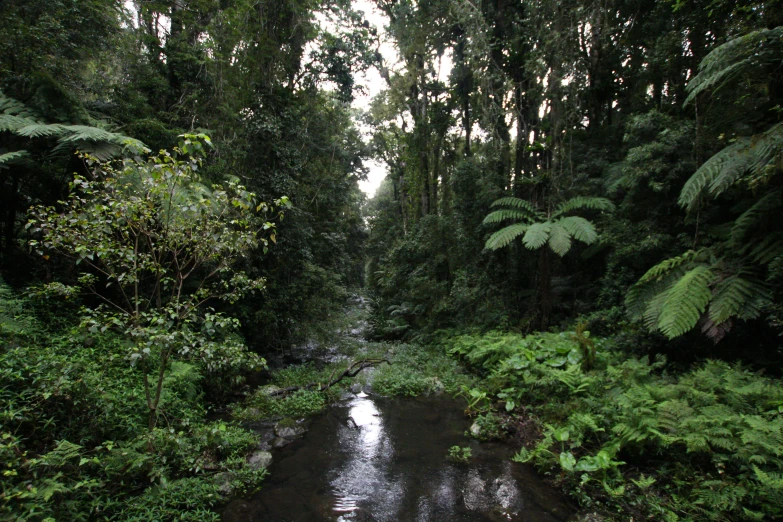
[[[715,48],[688,85],[686,105],[696,96],[726,86],[739,76],[758,72],[783,59],[783,28],[762,29]],[[682,188],[679,204],[688,212],[724,195],[732,187],[757,188],[780,173],[783,124],[754,136],[740,136],[709,158]],[[747,193],[746,193],[747,194]],[[728,238],[699,252],[667,259],[651,268],[628,292],[630,316],[651,330],[674,338],[702,322],[716,342],[735,319],[759,317],[771,302],[766,266],[783,256],[783,232],[775,216],[783,191],[761,197],[747,194],[746,208],[730,224]]]

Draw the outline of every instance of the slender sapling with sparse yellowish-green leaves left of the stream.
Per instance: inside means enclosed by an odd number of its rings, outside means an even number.
[[[118,168],[87,158],[93,180],[75,177],[60,210],[35,208],[28,223],[40,238],[30,245],[41,255],[53,251],[85,267],[78,285],[45,291],[66,297],[83,291],[99,300],[82,311],[82,327],[111,329],[128,341],[128,360],[144,372],[150,430],[174,357],[209,371],[263,365],[229,335],[237,320],[202,306],[235,303],[263,288],[264,281],[233,266],[259,243],[266,249],[276,241],[274,224],[254,216],[269,210],[254,194],[234,182],[225,189],[197,183],[197,155],[210,143],[185,135],[174,155],[125,160]],[[188,154],[194,156],[178,157]]]

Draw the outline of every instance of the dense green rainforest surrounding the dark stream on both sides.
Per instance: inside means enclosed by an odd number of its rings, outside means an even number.
[[[595,516],[783,517],[779,2],[0,20],[0,518],[219,520],[264,487],[248,405],[333,399],[267,361],[354,296],[405,347],[378,389],[445,383]]]

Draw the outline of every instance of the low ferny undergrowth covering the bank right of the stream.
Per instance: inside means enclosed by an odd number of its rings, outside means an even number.
[[[778,380],[719,361],[671,375],[663,358],[588,339],[491,332],[443,344],[483,376],[481,393],[498,409],[538,419],[543,437],[515,460],[551,474],[583,507],[625,520],[783,516]]]

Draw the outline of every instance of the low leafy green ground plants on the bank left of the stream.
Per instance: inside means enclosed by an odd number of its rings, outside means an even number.
[[[245,465],[256,435],[204,419],[207,368],[171,365],[166,427],[150,432],[127,341],[60,328],[49,304],[0,285],[0,518],[212,520],[225,495],[215,473],[230,473],[236,491],[259,486],[265,471]]]

